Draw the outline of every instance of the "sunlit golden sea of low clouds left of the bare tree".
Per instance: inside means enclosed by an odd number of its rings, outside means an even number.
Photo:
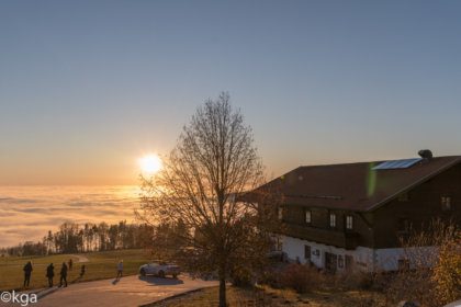
[[[63,223],[132,223],[137,186],[0,186],[0,247],[41,240]]]

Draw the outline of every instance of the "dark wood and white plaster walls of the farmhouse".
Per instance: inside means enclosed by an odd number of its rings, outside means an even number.
[[[398,269],[398,260],[407,259],[409,265],[424,261],[430,265],[431,258],[437,251],[432,247],[411,249],[401,248],[400,237],[407,237],[408,231],[402,231],[401,219],[407,219],[413,230],[420,230],[429,225],[435,218],[445,221],[451,220],[461,225],[461,164],[434,177],[407,192],[408,198],[395,198],[380,208],[368,213],[355,213],[336,211],[322,207],[308,207],[312,212],[312,224],[302,229],[300,236],[288,234],[282,236],[283,251],[288,257],[301,263],[305,263],[304,246],[310,246],[311,251],[317,254],[311,255],[311,261],[318,268],[325,268],[325,252],[336,255],[350,255],[355,266],[364,271],[394,271]],[[451,209],[442,211],[441,196],[451,197]],[[307,226],[304,212],[307,207],[286,204],[283,211],[283,220],[291,225]],[[337,215],[336,229],[329,227],[329,213]],[[345,229],[345,215],[353,216],[353,231],[360,235],[359,246],[356,249],[346,250],[341,246],[331,246],[335,241],[335,232],[347,231]],[[322,238],[314,240],[308,234],[310,228],[326,229]],[[314,231],[314,230],[311,230]],[[328,232],[331,231],[331,232]],[[330,236],[331,235],[331,236]],[[316,236],[317,238],[318,236]],[[427,257],[428,255],[428,257]],[[341,271],[342,268],[338,268]]]

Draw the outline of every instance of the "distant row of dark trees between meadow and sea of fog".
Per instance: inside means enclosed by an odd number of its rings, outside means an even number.
[[[25,241],[14,247],[1,248],[1,254],[45,255],[52,253],[79,253],[116,249],[151,247],[154,227],[148,224],[76,224],[64,223],[55,232],[41,241]]]

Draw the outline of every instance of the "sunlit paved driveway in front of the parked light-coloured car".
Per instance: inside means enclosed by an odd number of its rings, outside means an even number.
[[[188,275],[180,275],[178,280],[126,276],[119,282],[103,280],[72,284],[66,288],[46,289],[38,293],[38,303],[30,306],[134,307],[188,291],[215,285],[217,285],[217,282],[192,280]]]

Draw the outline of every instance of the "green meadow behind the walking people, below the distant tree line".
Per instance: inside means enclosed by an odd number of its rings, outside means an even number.
[[[87,282],[102,278],[111,278],[116,275],[116,264],[123,260],[123,272],[125,275],[136,274],[140,264],[147,263],[149,254],[143,250],[119,250],[106,252],[82,253],[88,262],[78,263],[78,258],[69,254],[57,254],[48,257],[4,257],[0,258],[0,291],[20,289],[23,284],[24,273],[22,271],[27,261],[32,261],[34,271],[31,276],[30,288],[42,288],[47,286],[46,266],[49,263],[55,265],[54,282],[59,282],[61,263],[71,258],[74,268],[68,271],[67,282]],[[83,277],[78,278],[81,265],[86,265]]]

